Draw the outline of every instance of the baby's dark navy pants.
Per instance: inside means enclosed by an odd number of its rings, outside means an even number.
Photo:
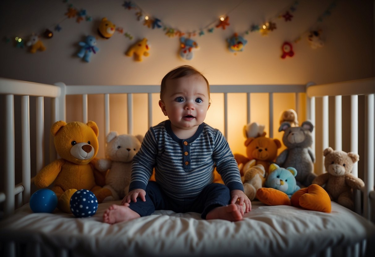
[[[146,187],[146,201],[140,198],[136,202],[130,202],[130,209],[141,217],[151,215],[156,210],[171,210],[174,212],[198,212],[202,218],[206,218],[212,209],[228,205],[230,202],[229,188],[223,184],[212,183],[205,186],[202,192],[193,198],[175,200],[167,196],[160,186],[149,181]]]

